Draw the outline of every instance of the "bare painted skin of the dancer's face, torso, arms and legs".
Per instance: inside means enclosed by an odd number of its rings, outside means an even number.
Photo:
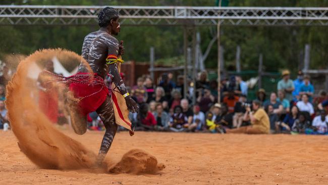
[[[116,20],[112,19],[110,24],[108,24],[106,27],[101,27],[98,31],[87,35],[83,42],[82,56],[89,63],[93,73],[97,73],[102,78],[104,78],[107,73],[112,75],[113,83],[117,86],[120,94],[125,95],[128,90],[120,76],[117,64],[106,63],[106,58],[108,55],[114,55],[118,58],[124,55],[125,50],[123,47],[123,41],[121,41],[119,44],[118,40],[112,36],[118,35],[120,30],[120,22],[119,18],[117,18]],[[78,72],[89,71],[88,68],[84,66],[83,63],[81,63]],[[72,95],[68,94],[68,97],[70,96],[72,97]],[[138,105],[131,98],[131,96],[125,97],[125,101],[129,111],[138,111]],[[69,104],[71,104],[70,107],[73,107],[70,109],[70,114],[74,131],[77,134],[85,133],[87,129],[86,116],[79,113],[79,106],[77,103],[71,101]],[[111,97],[107,96],[105,101],[102,103],[102,105],[100,105],[100,107],[98,107],[96,112],[106,128],[97,158],[97,164],[101,165],[106,153],[112,145],[118,128],[118,125],[115,122],[115,113]]]

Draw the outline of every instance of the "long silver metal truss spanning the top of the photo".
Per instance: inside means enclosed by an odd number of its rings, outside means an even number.
[[[328,25],[328,8],[113,6],[125,25]],[[94,25],[101,6],[0,6],[1,25]]]

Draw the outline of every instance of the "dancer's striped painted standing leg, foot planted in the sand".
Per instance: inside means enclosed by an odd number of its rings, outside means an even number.
[[[101,165],[112,145],[118,126],[115,123],[114,107],[110,97],[107,96],[106,100],[96,110],[96,112],[106,128],[97,158],[98,165]]]

